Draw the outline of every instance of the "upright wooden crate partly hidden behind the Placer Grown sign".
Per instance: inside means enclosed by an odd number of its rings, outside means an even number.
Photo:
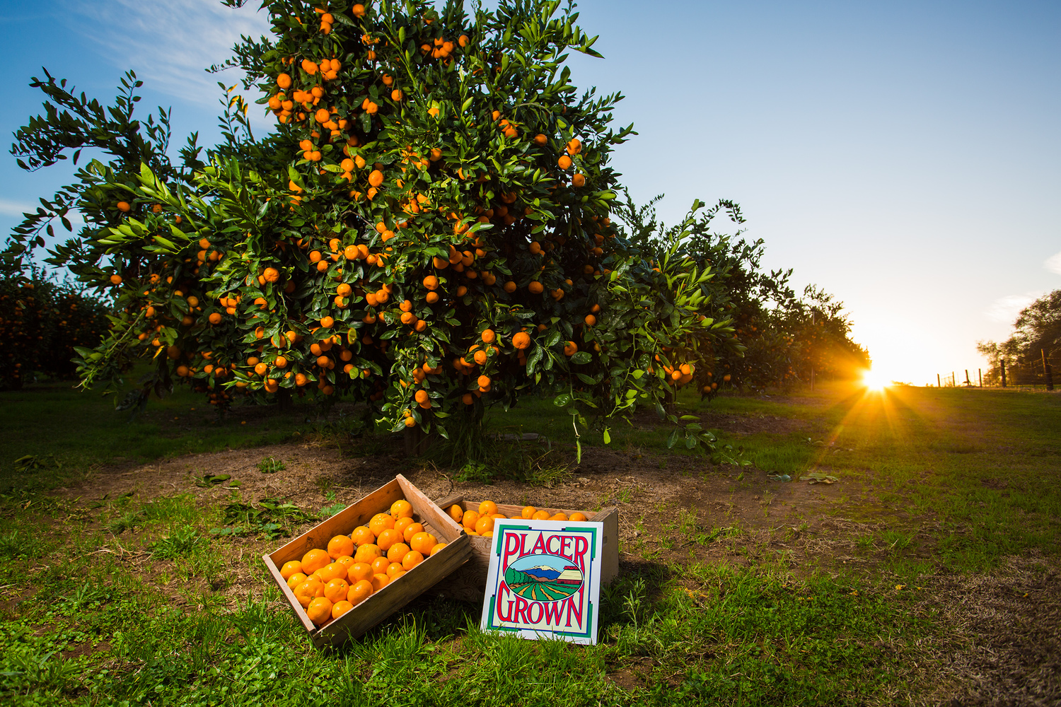
[[[459,506],[464,510],[479,510],[477,500],[465,500],[463,495],[454,495],[440,500],[437,506],[449,517],[450,507]],[[569,516],[575,513],[573,510],[563,508],[539,508],[539,511],[549,511],[550,515],[555,513],[567,513]],[[498,503],[498,513],[519,519],[522,506],[503,506]],[[619,509],[610,507],[601,509],[599,512],[578,511],[588,520],[604,524],[603,556],[601,558],[601,585],[610,584],[619,575]],[[450,518],[452,520],[452,518]],[[492,537],[481,535],[468,535],[471,542],[471,558],[452,575],[432,588],[433,594],[442,597],[452,597],[470,602],[482,602],[486,594],[486,577],[490,569],[490,545]]]

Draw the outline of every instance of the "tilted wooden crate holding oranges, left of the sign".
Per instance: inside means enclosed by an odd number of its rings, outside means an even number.
[[[302,555],[313,548],[327,548],[328,541],[335,535],[349,535],[358,526],[368,525],[373,515],[388,512],[390,505],[401,498],[413,506],[414,519],[423,524],[424,529],[434,534],[440,543],[448,543],[448,545],[402,577],[373,593],[368,599],[343,616],[331,619],[321,626],[314,625],[306,614],[306,609],[295,599],[295,594],[280,577],[279,568],[291,560],[301,560]],[[277,586],[286,597],[292,611],[295,612],[298,620],[309,633],[313,644],[323,648],[340,646],[351,638],[361,636],[443,577],[453,572],[471,554],[470,540],[449,514],[431,502],[430,498],[399,474],[394,480],[352,506],[348,506],[345,510],[278,550],[262,555],[262,560],[272,572],[273,579],[276,580]]]

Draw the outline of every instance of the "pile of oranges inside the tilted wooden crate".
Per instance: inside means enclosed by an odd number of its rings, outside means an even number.
[[[301,560],[284,563],[280,576],[306,609],[324,625],[337,619],[375,591],[397,581],[446,547],[413,519],[413,506],[396,500],[389,513],[377,513],[367,526],[336,535],[327,549],[315,548]]]

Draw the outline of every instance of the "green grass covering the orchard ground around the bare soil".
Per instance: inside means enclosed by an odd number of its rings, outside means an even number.
[[[153,401],[149,413],[158,419],[128,423],[109,401],[60,387],[4,393],[0,414],[14,434],[0,441],[3,479],[21,488],[0,496],[0,700],[465,707],[920,699],[937,687],[935,671],[914,665],[924,665],[923,647],[940,640],[942,628],[918,578],[990,571],[1007,555],[1031,552],[1055,562],[1061,552],[1061,395],[849,393],[834,387],[798,402],[679,403],[690,411],[806,422],[806,432],[724,439],[754,462],[744,470],[749,476],[822,470],[839,477],[835,514],[887,522],[851,537],[872,571],[849,571],[828,558],[793,571],[784,553],[741,528],[708,528],[695,509],[661,506],[669,518],[661,540],[641,532],[624,547],[645,560],[624,566],[602,594],[595,647],[483,634],[477,607],[421,598],[331,652],[311,647],[267,581],[234,600],[224,591],[236,575],[261,577],[257,548],[299,532],[316,517],[312,510],[279,501],[204,506],[192,495],[147,502],[126,495],[86,508],[46,492],[116,454],[147,460],[288,439],[305,428],[307,410],[258,419],[249,430],[238,414],[219,424],[204,412],[173,429],[161,416],[185,418],[199,399]],[[549,400],[521,401],[509,416],[488,419],[487,428],[574,443],[570,418]],[[580,432],[585,445],[603,445],[598,432]],[[646,423],[616,425],[611,444],[642,450],[653,464],[690,454],[668,452],[667,435]],[[41,458],[39,465],[16,470],[11,462],[27,454]],[[63,466],[49,465],[49,455]],[[716,470],[726,478],[741,471]],[[539,473],[561,480],[568,472]],[[619,495],[628,502],[639,493]],[[705,563],[695,552],[674,561],[675,549],[690,543],[721,545],[736,561]]]

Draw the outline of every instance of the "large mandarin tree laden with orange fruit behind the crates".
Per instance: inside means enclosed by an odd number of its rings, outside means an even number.
[[[454,412],[507,408],[533,386],[576,421],[662,411],[712,365],[732,330],[698,312],[712,273],[681,254],[689,231],[649,262],[611,223],[610,152],[632,129],[610,127],[621,95],[571,83],[567,52],[596,55],[573,5],[262,7],[273,36],[245,38],[226,66],[264,94],[268,136],[249,134],[250,106],[230,93],[226,143],[204,160],[190,144],[174,167],[153,137],[139,159],[109,149],[55,199],[89,213],[53,262],[118,307],[107,340],[82,352],[86,385],[153,357],[220,405],[234,391],[348,394],[396,431],[445,436]],[[87,105],[51,76],[37,85]],[[82,112],[67,122],[112,117]],[[35,120],[15,151],[29,167],[80,148],[55,108]],[[700,442],[713,438],[686,426]]]

